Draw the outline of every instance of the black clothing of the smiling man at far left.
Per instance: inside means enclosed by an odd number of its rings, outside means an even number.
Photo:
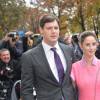
[[[16,60],[11,60],[8,64],[0,60],[0,98],[11,100],[12,87],[20,76],[20,66]]]

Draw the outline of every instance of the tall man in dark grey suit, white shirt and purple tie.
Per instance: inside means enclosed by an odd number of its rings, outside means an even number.
[[[34,100],[33,87],[37,100],[75,100],[70,79],[73,53],[68,46],[58,42],[58,19],[52,15],[44,15],[40,19],[40,32],[43,36],[42,43],[25,52],[21,59],[22,100]],[[63,66],[63,77],[59,76],[55,54],[51,48],[56,48],[59,54]],[[62,78],[61,82],[59,77]]]

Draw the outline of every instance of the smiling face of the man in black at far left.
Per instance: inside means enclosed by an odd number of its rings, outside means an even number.
[[[0,59],[4,63],[9,63],[9,61],[10,61],[10,53],[9,53],[9,51],[2,51],[1,55],[0,55]]]

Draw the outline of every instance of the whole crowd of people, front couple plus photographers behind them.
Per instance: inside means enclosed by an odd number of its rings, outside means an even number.
[[[10,32],[0,41],[0,100],[13,100],[19,80],[16,100],[100,100],[100,43],[95,33],[61,38],[54,15],[41,17],[39,27],[41,35]]]

